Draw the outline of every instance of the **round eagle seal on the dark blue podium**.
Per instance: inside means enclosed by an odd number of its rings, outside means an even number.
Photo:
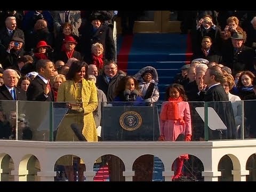
[[[136,111],[126,111],[119,118],[121,127],[126,131],[137,130],[142,124],[142,118]]]

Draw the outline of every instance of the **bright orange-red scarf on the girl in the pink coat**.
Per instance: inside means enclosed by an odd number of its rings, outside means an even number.
[[[166,120],[173,120],[174,123],[177,123],[178,121],[180,124],[185,124],[185,121],[183,118],[179,117],[179,108],[178,108],[178,102],[182,102],[183,99],[181,97],[179,98],[169,98],[167,105],[163,107],[163,110],[161,111],[160,118],[163,121]]]

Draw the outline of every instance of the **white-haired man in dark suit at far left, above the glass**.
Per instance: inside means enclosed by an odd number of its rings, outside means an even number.
[[[6,69],[3,73],[4,84],[0,86],[0,100],[27,100],[26,92],[15,86],[17,72]]]

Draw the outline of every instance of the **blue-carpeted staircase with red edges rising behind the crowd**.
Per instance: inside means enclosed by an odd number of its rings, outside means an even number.
[[[134,75],[141,68],[157,69],[160,92],[164,100],[167,85],[180,73],[180,67],[191,58],[188,35],[181,34],[135,34],[117,37],[117,65],[127,75]]]

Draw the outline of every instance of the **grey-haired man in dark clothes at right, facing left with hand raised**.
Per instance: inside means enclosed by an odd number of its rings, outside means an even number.
[[[221,84],[223,78],[222,71],[219,67],[211,67],[206,70],[204,75],[204,83],[207,85],[204,91],[201,85],[198,86],[200,90],[199,96],[201,101],[205,101],[205,105],[211,107],[219,115],[222,122],[226,125],[227,130],[211,130],[208,129],[209,139],[235,139],[235,119],[228,95]],[[213,102],[214,101],[214,102]],[[217,102],[226,101],[226,102]],[[209,108],[208,108],[209,109]],[[209,117],[211,118],[211,117]]]

